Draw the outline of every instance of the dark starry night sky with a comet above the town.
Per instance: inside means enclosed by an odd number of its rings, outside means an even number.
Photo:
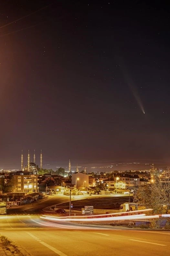
[[[170,165],[169,59],[164,1],[1,1],[0,169]]]

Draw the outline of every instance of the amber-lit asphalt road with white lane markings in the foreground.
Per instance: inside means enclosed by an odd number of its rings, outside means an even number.
[[[10,208],[11,214],[0,215],[0,233],[31,256],[169,255],[168,231],[58,224],[40,218],[39,210],[44,206],[64,200],[56,197]]]

